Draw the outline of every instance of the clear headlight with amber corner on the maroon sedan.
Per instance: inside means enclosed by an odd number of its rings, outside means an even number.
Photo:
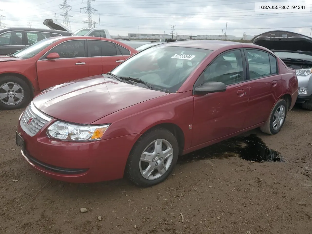
[[[49,137],[64,141],[95,141],[100,140],[110,124],[76,125],[56,121],[47,129]]]

